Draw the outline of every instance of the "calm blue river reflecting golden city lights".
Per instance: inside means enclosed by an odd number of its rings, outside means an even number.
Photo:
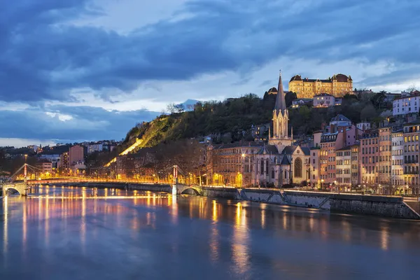
[[[72,187],[0,205],[0,279],[420,278],[417,221]]]

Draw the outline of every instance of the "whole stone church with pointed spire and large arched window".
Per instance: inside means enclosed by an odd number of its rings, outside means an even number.
[[[273,110],[272,133],[255,155],[253,184],[281,187],[300,184],[310,179],[309,148],[293,146],[293,128],[288,134],[288,109],[283,92],[281,73]]]

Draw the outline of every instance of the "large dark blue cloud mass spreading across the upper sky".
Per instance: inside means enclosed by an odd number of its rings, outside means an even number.
[[[81,87],[130,92],[147,80],[248,72],[281,56],[418,63],[419,8],[410,0],[191,1],[183,20],[121,35],[64,24],[103,13],[88,0],[1,1],[0,99],[67,101]]]

